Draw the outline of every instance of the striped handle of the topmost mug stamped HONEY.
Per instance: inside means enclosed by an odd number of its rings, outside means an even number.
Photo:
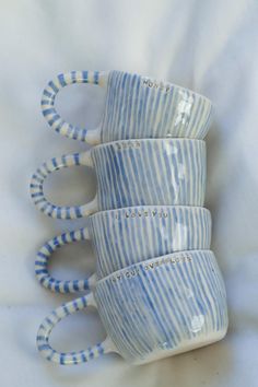
[[[106,87],[108,72],[70,71],[56,77],[43,92],[42,110],[50,128],[69,139],[87,142],[91,145],[101,143],[101,128],[87,130],[64,121],[55,108],[57,93],[74,83],[90,83]]]

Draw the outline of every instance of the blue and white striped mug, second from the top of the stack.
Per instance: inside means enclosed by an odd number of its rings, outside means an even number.
[[[95,169],[97,192],[83,206],[60,207],[43,190],[54,171],[73,165]],[[203,206],[206,194],[206,143],[188,139],[115,141],[83,153],[54,157],[33,175],[31,196],[51,218],[75,219],[96,211],[132,206]]]

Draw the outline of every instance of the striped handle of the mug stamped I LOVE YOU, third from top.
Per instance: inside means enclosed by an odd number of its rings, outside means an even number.
[[[35,274],[38,282],[55,293],[75,293],[90,290],[95,284],[95,274],[84,280],[59,281],[48,272],[48,261],[59,247],[80,241],[90,241],[87,227],[63,233],[48,241],[37,253]]]

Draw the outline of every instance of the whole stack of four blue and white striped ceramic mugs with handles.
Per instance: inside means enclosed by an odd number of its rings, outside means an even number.
[[[59,90],[73,83],[105,90],[105,112],[95,130],[66,122],[55,109]],[[142,364],[222,339],[227,329],[225,289],[210,250],[211,215],[202,207],[210,101],[137,74],[72,71],[48,83],[42,106],[52,129],[94,145],[51,159],[32,178],[31,196],[45,214],[89,216],[85,227],[56,236],[37,254],[42,285],[61,293],[91,290],[44,319],[37,335],[42,355],[78,364],[117,352]],[[83,206],[55,206],[44,196],[44,180],[73,165],[95,171],[95,198]],[[93,243],[96,273],[84,280],[54,279],[50,255],[84,239]],[[98,309],[106,340],[79,352],[52,349],[52,328],[90,305]]]

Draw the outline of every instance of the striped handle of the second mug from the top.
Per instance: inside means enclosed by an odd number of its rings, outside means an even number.
[[[56,219],[79,219],[97,211],[97,194],[92,201],[82,206],[56,206],[45,198],[43,185],[46,177],[55,171],[74,165],[85,165],[93,168],[91,150],[83,153],[73,153],[54,157],[43,163],[43,165],[33,174],[30,185],[31,197],[34,204],[46,215]]]

